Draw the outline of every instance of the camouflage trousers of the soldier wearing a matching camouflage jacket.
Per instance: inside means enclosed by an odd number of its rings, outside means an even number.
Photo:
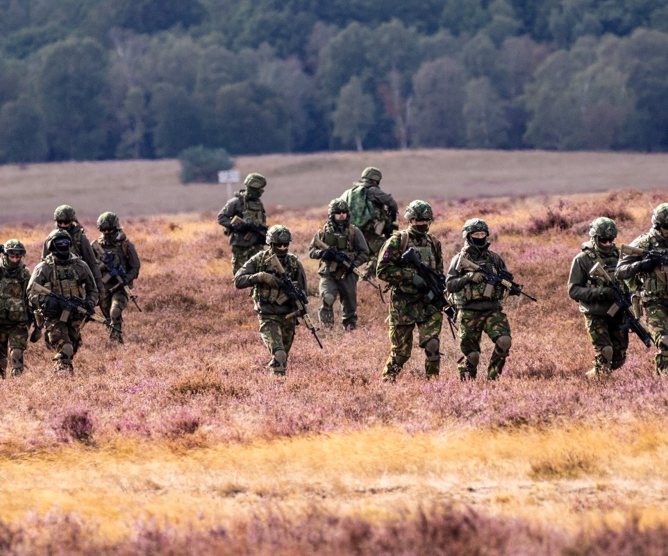
[[[443,315],[440,312],[431,314],[427,320],[410,324],[390,324],[390,357],[387,357],[383,367],[383,380],[394,380],[403,365],[410,359],[413,346],[413,330],[417,326],[418,344],[424,349],[426,360],[424,372],[427,378],[438,376],[441,358],[438,351],[438,337],[443,325]],[[435,339],[435,342],[433,340]],[[431,342],[430,342],[431,340]],[[432,350],[432,351],[430,351]]]

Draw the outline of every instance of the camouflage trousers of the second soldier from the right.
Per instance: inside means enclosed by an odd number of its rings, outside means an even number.
[[[619,328],[624,323],[624,314],[619,311],[615,317],[585,314],[585,326],[590,342],[594,346],[594,372],[610,374],[626,362],[628,348],[628,328]]]

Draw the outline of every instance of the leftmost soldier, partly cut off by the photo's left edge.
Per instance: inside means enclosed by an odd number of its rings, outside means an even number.
[[[10,376],[23,373],[23,352],[28,346],[28,314],[26,294],[30,272],[22,258],[26,248],[18,239],[3,245],[0,258],[0,377],[5,378],[8,358],[11,357]]]

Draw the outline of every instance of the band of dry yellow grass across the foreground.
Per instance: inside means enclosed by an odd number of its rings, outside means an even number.
[[[109,538],[137,519],[208,527],[265,509],[312,505],[367,519],[445,501],[579,528],[668,523],[665,423],[615,428],[445,432],[376,429],[185,449],[123,441],[0,460],[3,519],[54,505],[99,521]]]

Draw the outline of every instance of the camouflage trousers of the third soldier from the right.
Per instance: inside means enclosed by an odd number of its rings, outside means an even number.
[[[457,369],[462,380],[465,378],[476,378],[478,373],[478,360],[480,357],[480,341],[483,332],[494,342],[494,353],[490,357],[487,367],[487,378],[494,380],[501,375],[503,365],[506,364],[508,349],[504,350],[496,344],[501,337],[508,337],[510,341],[510,323],[508,317],[502,311],[474,311],[460,309],[457,314],[459,324],[459,348],[464,354],[458,361]]]

